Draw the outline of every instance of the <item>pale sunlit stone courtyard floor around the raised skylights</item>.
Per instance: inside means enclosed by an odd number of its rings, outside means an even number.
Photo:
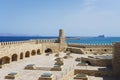
[[[65,53],[60,53],[60,56],[63,57]],[[80,55],[80,54],[71,54],[73,58],[69,59],[64,59],[64,66],[62,71],[45,71],[45,70],[24,70],[25,66],[28,64],[35,64],[36,66],[41,66],[41,67],[53,67],[54,66],[54,54],[51,54],[49,56],[45,56],[45,54],[42,55],[36,55],[36,56],[31,56],[30,58],[24,58],[23,60],[11,62],[10,64],[6,64],[3,66],[3,68],[0,69],[0,80],[7,80],[4,79],[4,77],[10,73],[10,72],[17,72],[18,77],[15,80],[38,80],[39,76],[42,73],[48,72],[52,73],[55,77],[54,80],[61,80],[61,78],[69,73],[70,70],[73,70],[76,68],[76,64],[78,62],[75,61],[75,58],[77,57],[83,57],[86,55]],[[81,67],[77,67],[81,68]],[[86,67],[83,67],[86,68]],[[87,67],[89,68],[89,67]],[[96,69],[96,68],[91,68],[91,69]],[[69,80],[73,80],[72,78]],[[94,76],[89,76],[89,80],[105,80],[102,77],[94,77]],[[110,80],[107,79],[106,80]]]

